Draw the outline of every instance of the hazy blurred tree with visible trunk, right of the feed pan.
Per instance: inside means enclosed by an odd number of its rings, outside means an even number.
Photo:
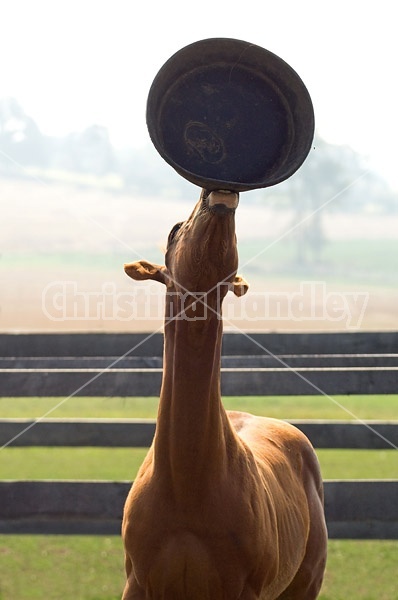
[[[302,167],[282,186],[293,209],[292,238],[299,266],[322,262],[327,243],[323,217],[328,211],[398,210],[397,194],[369,170],[360,154],[319,137]]]

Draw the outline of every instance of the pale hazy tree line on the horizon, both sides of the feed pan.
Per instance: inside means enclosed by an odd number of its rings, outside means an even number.
[[[271,198],[281,209],[293,208],[300,219],[306,211],[316,211],[326,198],[344,189],[330,210],[398,212],[397,192],[377,173],[367,171],[361,155],[317,136],[313,146],[296,174],[252,197],[256,201],[259,197]],[[23,177],[24,167],[59,169],[96,177],[117,174],[123,190],[134,190],[142,195],[159,194],[169,188],[183,196],[187,185],[150,144],[140,149],[115,148],[108,129],[98,124],[64,137],[47,136],[15,98],[3,98],[0,100],[0,173]],[[355,185],[351,186],[354,181]],[[317,218],[315,214],[314,219]],[[319,226],[313,229],[319,231]]]

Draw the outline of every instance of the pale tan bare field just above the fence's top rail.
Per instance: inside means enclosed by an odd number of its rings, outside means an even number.
[[[163,327],[164,289],[129,280],[122,268],[76,272],[26,266],[3,269],[0,331],[156,331]],[[225,329],[244,331],[394,330],[398,291],[320,281],[253,284],[228,294]]]

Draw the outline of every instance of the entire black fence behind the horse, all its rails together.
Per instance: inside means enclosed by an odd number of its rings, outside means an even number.
[[[162,346],[160,334],[0,335],[0,396],[157,396]],[[233,396],[396,394],[398,333],[225,334],[221,377]],[[316,448],[398,446],[398,421],[291,422]],[[0,446],[147,447],[155,427],[2,419]],[[130,485],[2,481],[0,533],[118,534]],[[398,539],[398,480],[326,481],[325,510],[331,538]]]

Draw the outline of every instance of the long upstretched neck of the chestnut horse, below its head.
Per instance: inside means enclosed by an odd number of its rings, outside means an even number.
[[[155,436],[155,469],[173,493],[199,498],[226,468],[234,434],[221,403],[222,322],[175,320],[165,327],[164,372]]]

